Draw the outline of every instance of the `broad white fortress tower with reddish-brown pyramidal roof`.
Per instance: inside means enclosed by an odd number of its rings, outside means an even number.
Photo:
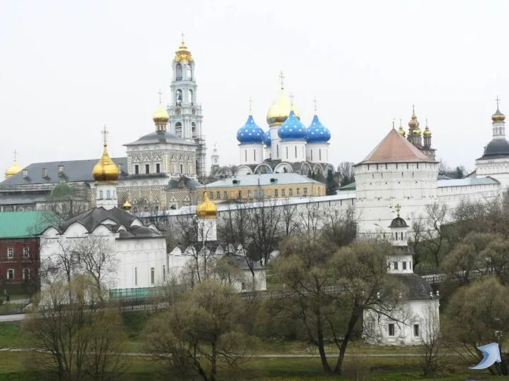
[[[359,231],[385,231],[394,207],[404,207],[406,218],[438,201],[438,162],[427,157],[394,128],[353,167]]]

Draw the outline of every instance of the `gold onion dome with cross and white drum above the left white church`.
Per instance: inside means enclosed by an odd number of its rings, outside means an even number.
[[[107,131],[103,129],[103,156],[93,167],[92,176],[95,180],[95,206],[113,209],[118,205],[117,179],[119,168],[107,152]]]

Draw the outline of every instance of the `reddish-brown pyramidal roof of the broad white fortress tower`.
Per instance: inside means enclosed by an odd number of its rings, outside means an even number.
[[[406,162],[435,163],[435,160],[424,155],[419,148],[411,144],[392,128],[375,149],[358,164]]]

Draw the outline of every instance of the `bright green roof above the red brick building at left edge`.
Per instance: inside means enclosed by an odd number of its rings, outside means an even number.
[[[51,212],[0,212],[0,238],[38,236],[51,225]]]

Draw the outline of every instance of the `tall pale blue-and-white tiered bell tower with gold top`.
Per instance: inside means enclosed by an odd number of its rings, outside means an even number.
[[[194,75],[194,59],[187,49],[182,33],[182,42],[172,61],[173,77],[170,85],[172,102],[168,106],[171,133],[197,145],[197,176],[206,176],[205,135],[201,131],[201,104],[197,102],[197,83]]]

